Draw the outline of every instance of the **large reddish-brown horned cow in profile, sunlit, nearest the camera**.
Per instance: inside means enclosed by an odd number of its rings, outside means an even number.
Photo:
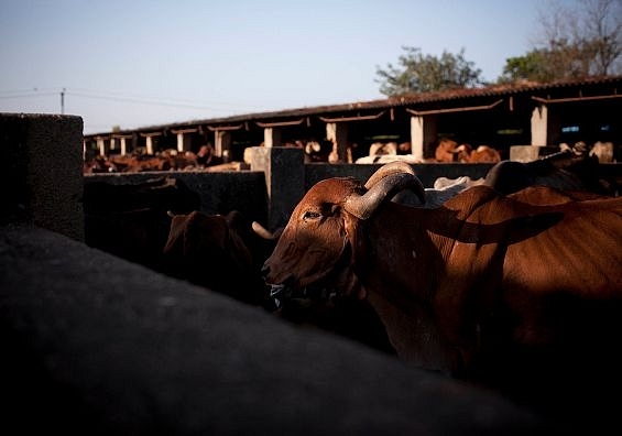
[[[480,185],[434,209],[389,201],[406,188],[425,200],[410,173],[318,182],[266,283],[364,299],[404,361],[533,406],[583,407],[583,393],[622,386],[621,198],[531,205]]]

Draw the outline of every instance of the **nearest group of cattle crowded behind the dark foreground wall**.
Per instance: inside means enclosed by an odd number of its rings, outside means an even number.
[[[275,232],[200,212],[174,177],[89,183],[86,237],[556,416],[604,416],[621,405],[604,392],[622,388],[622,198],[592,157],[502,161],[428,188],[392,162],[317,183]]]

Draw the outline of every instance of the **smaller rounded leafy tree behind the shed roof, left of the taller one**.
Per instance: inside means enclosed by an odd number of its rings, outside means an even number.
[[[458,54],[444,51],[440,57],[423,55],[417,47],[403,46],[405,54],[399,65],[388,64],[386,69],[377,66],[380,92],[389,97],[412,92],[440,91],[471,88],[483,85],[481,69],[465,59],[465,48]]]

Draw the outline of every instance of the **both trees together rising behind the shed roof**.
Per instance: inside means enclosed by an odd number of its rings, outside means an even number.
[[[622,74],[622,0],[586,0],[576,6],[549,1],[538,11],[539,30],[533,48],[505,59],[498,84],[548,83]],[[481,69],[465,57],[465,48],[440,56],[403,46],[396,65],[377,67],[375,81],[385,96],[474,88],[484,85]]]

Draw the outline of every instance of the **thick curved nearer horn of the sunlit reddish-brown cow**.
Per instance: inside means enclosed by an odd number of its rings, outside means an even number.
[[[365,194],[351,194],[343,208],[360,219],[368,219],[386,198],[393,198],[401,190],[411,189],[425,203],[425,188],[414,174],[394,173],[382,177]]]

